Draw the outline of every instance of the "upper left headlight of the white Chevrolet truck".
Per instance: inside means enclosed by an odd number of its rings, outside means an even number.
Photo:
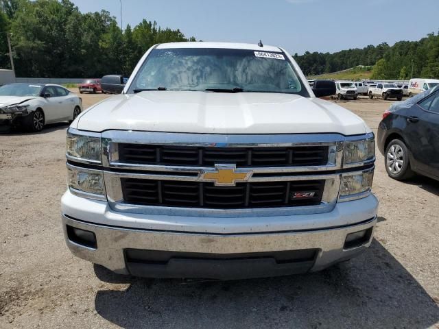
[[[67,158],[73,157],[74,160],[100,163],[101,138],[99,134],[94,135],[88,136],[67,132]]]

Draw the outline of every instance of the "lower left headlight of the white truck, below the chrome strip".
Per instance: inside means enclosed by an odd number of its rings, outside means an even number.
[[[75,195],[105,199],[104,175],[102,171],[67,165],[67,186]]]

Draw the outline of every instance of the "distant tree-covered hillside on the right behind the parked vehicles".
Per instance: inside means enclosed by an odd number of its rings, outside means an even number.
[[[373,66],[372,79],[407,80],[410,77],[439,78],[439,34],[427,34],[418,41],[383,42],[363,49],[336,53],[309,51],[294,54],[305,75],[342,71],[354,66]]]

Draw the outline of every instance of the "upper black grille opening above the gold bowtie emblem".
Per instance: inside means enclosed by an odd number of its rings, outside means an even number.
[[[191,147],[119,143],[119,162],[170,166],[237,167],[320,166],[328,162],[328,146]]]

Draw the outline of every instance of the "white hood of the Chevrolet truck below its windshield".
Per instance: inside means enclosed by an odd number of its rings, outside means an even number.
[[[80,115],[79,130],[205,134],[365,134],[352,112],[317,98],[279,93],[145,91],[110,97]]]

